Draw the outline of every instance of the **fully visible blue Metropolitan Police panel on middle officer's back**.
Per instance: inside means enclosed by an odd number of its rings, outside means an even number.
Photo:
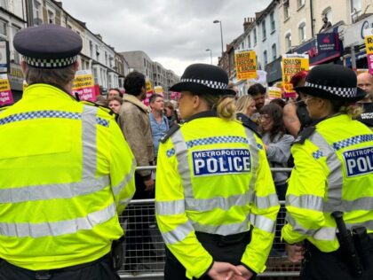
[[[251,170],[250,151],[226,149],[192,152],[194,175],[247,173]]]

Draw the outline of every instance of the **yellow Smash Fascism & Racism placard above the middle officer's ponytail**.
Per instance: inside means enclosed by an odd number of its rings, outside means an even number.
[[[234,52],[237,80],[257,79],[257,55],[255,51]]]

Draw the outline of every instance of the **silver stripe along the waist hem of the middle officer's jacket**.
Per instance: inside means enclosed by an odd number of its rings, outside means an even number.
[[[191,221],[195,231],[201,231],[204,233],[218,234],[221,236],[229,236],[236,233],[242,233],[250,229],[249,226],[249,215],[246,217],[245,221],[238,223],[226,223],[217,226],[205,225],[199,222]]]

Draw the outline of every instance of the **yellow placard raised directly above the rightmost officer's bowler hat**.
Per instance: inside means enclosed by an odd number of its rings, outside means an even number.
[[[285,94],[295,95],[291,77],[300,71],[309,70],[309,59],[307,54],[291,53],[282,55],[282,87]]]

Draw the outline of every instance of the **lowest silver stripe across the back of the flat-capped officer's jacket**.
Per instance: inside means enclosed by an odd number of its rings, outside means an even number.
[[[73,234],[79,230],[93,229],[115,217],[115,204],[92,212],[85,217],[59,222],[0,222],[0,235],[6,237],[58,237]]]

